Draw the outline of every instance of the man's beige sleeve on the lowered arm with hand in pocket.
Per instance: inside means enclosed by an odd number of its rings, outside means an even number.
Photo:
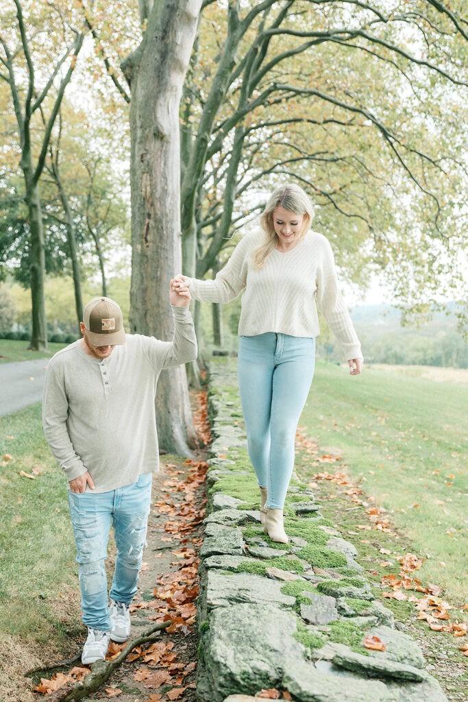
[[[58,373],[49,364],[44,383],[42,425],[53,457],[70,481],[83,475],[88,469],[74,450],[68,433],[67,417],[68,399],[65,383],[60,380]]]

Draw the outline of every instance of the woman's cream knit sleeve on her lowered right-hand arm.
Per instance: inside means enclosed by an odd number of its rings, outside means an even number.
[[[333,335],[342,345],[346,360],[362,358],[361,343],[338,287],[333,251],[328,240],[325,241],[323,265],[317,274],[317,305]]]

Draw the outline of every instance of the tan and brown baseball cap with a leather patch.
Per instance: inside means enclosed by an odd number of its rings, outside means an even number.
[[[126,343],[122,310],[110,298],[93,298],[83,312],[83,324],[93,346]]]

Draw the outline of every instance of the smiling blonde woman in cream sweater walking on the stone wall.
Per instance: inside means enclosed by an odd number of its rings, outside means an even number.
[[[316,303],[342,343],[352,375],[361,373],[361,345],[337,286],[333,252],[310,229],[312,202],[297,185],[274,191],[251,232],[215,280],[178,275],[176,289],[229,303],[242,291],[239,390],[248,454],[260,486],[260,517],[273,541],[288,543],[283,505],[293,472],[297,422],[304,407],[319,334]]]

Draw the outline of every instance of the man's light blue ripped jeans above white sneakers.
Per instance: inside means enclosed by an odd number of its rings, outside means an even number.
[[[112,628],[105,571],[111,522],[117,557],[109,597],[125,604],[135,597],[146,542],[151,484],[151,473],[145,473],[136,483],[109,492],[68,491],[78,552],[82,619],[93,629]]]

